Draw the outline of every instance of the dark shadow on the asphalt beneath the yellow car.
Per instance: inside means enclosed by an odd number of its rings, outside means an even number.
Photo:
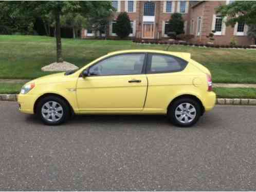
[[[42,122],[35,115],[27,115],[27,123],[33,123],[42,125]],[[199,121],[192,127],[205,129],[209,127],[209,124],[214,126],[219,126],[224,122],[224,118],[211,113],[202,116]],[[150,127],[168,126],[177,127],[170,123],[165,115],[77,115],[72,117],[67,123],[61,126],[86,126],[86,125],[141,125]]]

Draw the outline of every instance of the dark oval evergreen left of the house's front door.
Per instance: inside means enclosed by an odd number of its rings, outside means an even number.
[[[116,34],[120,38],[129,36],[132,31],[131,20],[126,12],[122,12],[116,19]]]

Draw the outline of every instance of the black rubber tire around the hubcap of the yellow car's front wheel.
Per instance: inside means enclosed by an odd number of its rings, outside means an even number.
[[[63,108],[63,115],[62,117],[56,121],[56,122],[50,122],[50,121],[47,121],[43,115],[42,115],[42,106],[46,103],[46,102],[49,102],[49,101],[55,101],[55,102],[58,102],[62,108]],[[69,105],[66,103],[65,100],[63,100],[62,98],[59,98],[59,97],[56,97],[56,96],[48,96],[48,97],[44,97],[42,98],[37,106],[36,106],[36,115],[43,121],[44,124],[46,125],[59,125],[59,124],[62,124],[64,122],[66,122],[69,117],[70,117],[70,109],[69,109]]]

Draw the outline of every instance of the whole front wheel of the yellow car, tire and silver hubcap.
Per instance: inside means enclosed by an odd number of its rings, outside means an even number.
[[[46,125],[59,125],[70,118],[69,104],[57,96],[42,98],[36,106],[36,115]]]

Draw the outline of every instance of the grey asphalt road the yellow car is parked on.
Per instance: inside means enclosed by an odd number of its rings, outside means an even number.
[[[79,116],[51,127],[0,102],[0,190],[255,190],[256,107],[196,126],[162,116]]]

